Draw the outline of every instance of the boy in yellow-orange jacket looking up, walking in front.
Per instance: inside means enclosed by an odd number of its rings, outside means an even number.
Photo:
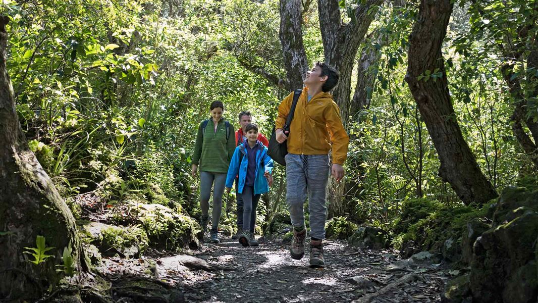
[[[287,140],[286,203],[294,227],[290,252],[293,259],[305,255],[306,225],[303,203],[308,193],[310,212],[310,267],[324,267],[325,187],[329,172],[336,181],[344,177],[349,137],[342,125],[338,105],[329,91],[338,83],[338,72],[323,62],[317,62],[306,73],[305,88],[297,102],[290,132],[284,133],[293,101],[289,94],[278,107],[275,133],[279,143]],[[332,164],[329,151],[332,150]]]

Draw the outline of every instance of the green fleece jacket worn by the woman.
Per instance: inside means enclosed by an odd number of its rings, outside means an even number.
[[[217,130],[213,119],[209,119],[206,133],[202,135],[202,124],[198,126],[198,135],[194,145],[193,164],[199,165],[202,172],[228,173],[228,166],[235,150],[235,130],[230,123],[230,136],[226,140],[225,119],[218,121]]]

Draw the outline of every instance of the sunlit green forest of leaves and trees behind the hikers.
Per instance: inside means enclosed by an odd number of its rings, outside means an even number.
[[[436,4],[6,0],[0,14],[20,125],[74,219],[95,205],[117,219],[132,201],[199,219],[190,166],[209,104],[236,129],[251,111],[268,137],[282,98],[326,61],[351,139],[328,219],[383,228],[403,249],[409,201],[472,213],[538,169],[538,3],[445,1],[448,26],[431,28],[421,5]],[[286,212],[283,167],[274,178],[260,232]]]

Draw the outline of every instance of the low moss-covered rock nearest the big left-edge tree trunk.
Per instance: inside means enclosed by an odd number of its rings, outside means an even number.
[[[95,245],[104,256],[138,256],[148,247],[146,232],[135,226],[89,222],[81,227],[81,234],[84,242]]]

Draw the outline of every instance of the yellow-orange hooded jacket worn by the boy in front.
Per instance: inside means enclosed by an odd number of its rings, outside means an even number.
[[[292,102],[293,92],[278,107],[276,129],[286,123]],[[340,109],[329,93],[320,92],[308,101],[308,88],[303,88],[289,125],[287,142],[288,152],[294,154],[328,154],[332,146],[332,163],[344,164],[349,137],[342,125]]]

